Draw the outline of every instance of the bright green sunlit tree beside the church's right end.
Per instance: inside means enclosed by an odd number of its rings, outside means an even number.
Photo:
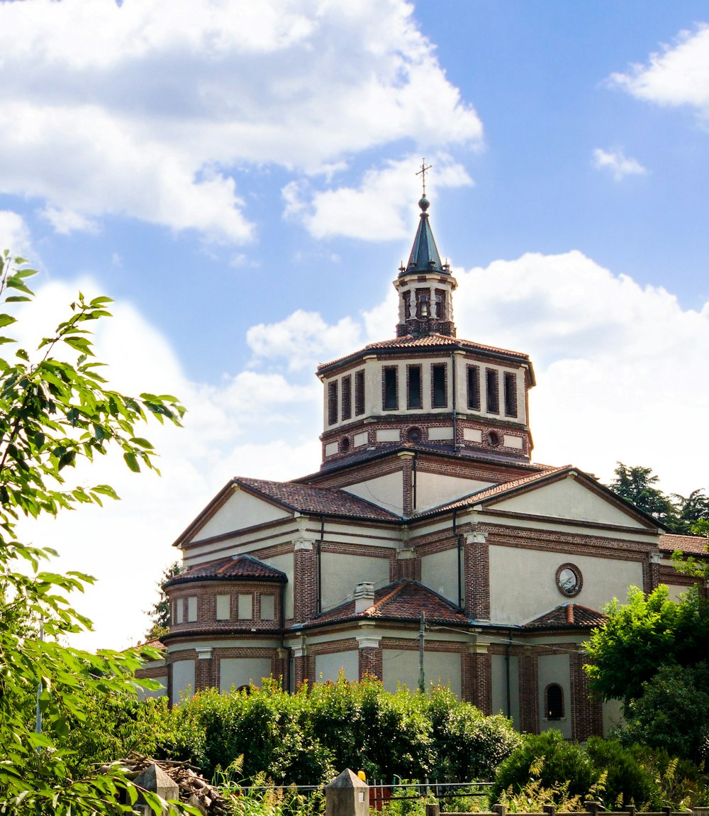
[[[709,610],[696,588],[672,601],[663,584],[647,597],[631,587],[628,602],[614,599],[606,614],[606,624],[584,644],[592,691],[604,700],[627,704],[664,663],[690,666],[709,650]]]

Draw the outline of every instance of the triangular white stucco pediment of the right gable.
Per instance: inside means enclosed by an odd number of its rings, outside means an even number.
[[[614,508],[601,496],[592,493],[573,478],[561,479],[552,485],[505,499],[504,502],[495,504],[495,508],[535,516],[596,521],[601,524],[645,529],[639,521]]]

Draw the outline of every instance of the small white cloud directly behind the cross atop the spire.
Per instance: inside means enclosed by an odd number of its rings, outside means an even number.
[[[421,159],[413,155],[385,162],[365,172],[358,188],[312,190],[306,182],[284,187],[285,215],[302,220],[317,237],[346,236],[365,241],[387,241],[411,235],[411,202],[421,195],[421,177],[414,167]],[[444,153],[433,159],[427,180],[429,192],[445,187],[473,184],[465,167]]]

